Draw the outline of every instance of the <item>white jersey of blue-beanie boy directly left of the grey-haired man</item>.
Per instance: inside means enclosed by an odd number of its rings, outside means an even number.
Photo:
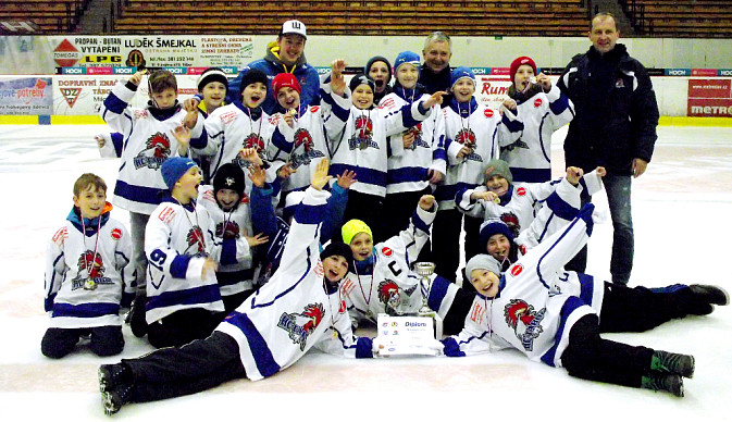
[[[430,96],[418,94],[417,98],[408,98],[410,101],[392,92],[382,99],[379,107],[389,113],[399,113],[405,105],[425,101]],[[439,104],[432,107],[430,117],[407,131],[414,135],[409,148],[404,146],[402,134],[388,137],[386,194],[421,191],[430,185],[430,170],[443,176],[446,173],[445,116]]]

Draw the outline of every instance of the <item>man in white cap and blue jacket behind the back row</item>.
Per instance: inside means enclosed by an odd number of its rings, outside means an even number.
[[[240,84],[244,74],[249,69],[258,69],[266,75],[268,95],[262,108],[272,115],[282,112],[274,95],[272,94],[272,79],[281,73],[291,73],[302,88],[300,102],[303,104],[318,104],[320,102],[320,78],[315,67],[309,65],[305,58],[305,44],[308,34],[305,24],[300,21],[287,21],[282,24],[276,41],[266,46],[266,54],[263,59],[256,60],[244,67],[236,79],[228,85],[229,98],[239,98]]]

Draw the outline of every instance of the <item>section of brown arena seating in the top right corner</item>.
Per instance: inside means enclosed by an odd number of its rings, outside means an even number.
[[[625,0],[640,36],[732,37],[732,1]]]

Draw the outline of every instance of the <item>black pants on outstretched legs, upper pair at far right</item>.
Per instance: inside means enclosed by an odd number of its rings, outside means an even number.
[[[599,330],[601,333],[641,333],[675,318],[708,313],[708,308],[709,303],[695,298],[684,285],[652,290],[606,282]]]

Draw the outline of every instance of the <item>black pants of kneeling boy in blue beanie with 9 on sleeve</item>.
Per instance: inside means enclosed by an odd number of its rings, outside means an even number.
[[[148,342],[157,348],[179,347],[206,338],[226,314],[206,309],[184,309],[148,325]]]

